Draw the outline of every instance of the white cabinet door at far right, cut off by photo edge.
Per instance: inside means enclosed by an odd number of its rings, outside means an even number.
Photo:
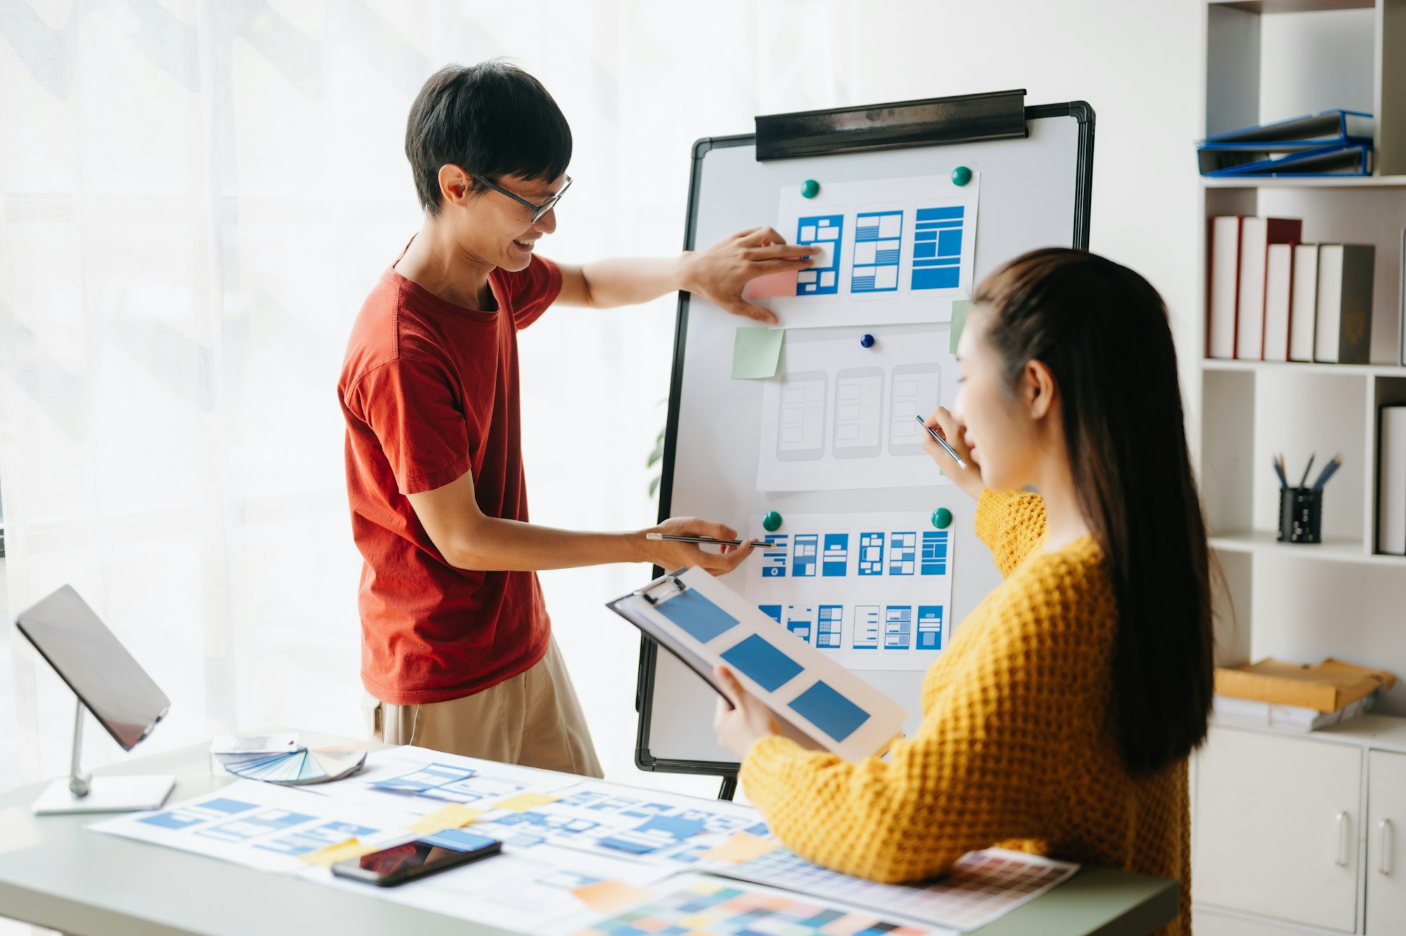
[[[1367,755],[1367,936],[1406,930],[1406,755]]]

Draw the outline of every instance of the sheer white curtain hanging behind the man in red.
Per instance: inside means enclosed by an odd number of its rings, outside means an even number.
[[[575,132],[547,256],[676,250],[689,143],[769,101],[755,38],[800,4],[0,3],[0,490],[10,613],[70,582],[173,700],[150,749],[266,724],[360,734],[359,557],[335,385],[419,211],[405,115],[446,62],[509,55]],[[818,14],[818,15],[817,15]],[[828,63],[834,7],[806,4]],[[742,27],[740,30],[740,27]],[[790,39],[789,39],[790,41]],[[707,60],[686,48],[725,49]],[[786,105],[835,91],[797,72]],[[804,80],[803,80],[804,79]],[[523,336],[534,517],[652,521],[672,299]],[[613,776],[641,568],[546,576]],[[0,787],[66,767],[72,696],[8,624]],[[87,758],[115,746],[90,734]]]

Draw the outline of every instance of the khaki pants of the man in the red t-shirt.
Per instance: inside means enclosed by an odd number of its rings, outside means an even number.
[[[536,666],[481,693],[392,706],[363,693],[373,741],[603,777],[576,690],[553,638]]]

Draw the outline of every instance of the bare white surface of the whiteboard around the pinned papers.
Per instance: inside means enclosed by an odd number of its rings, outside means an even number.
[[[1029,135],[979,143],[841,153],[759,163],[754,136],[703,139],[695,145],[685,249],[709,246],[737,230],[775,223],[778,193],[815,178],[825,183],[948,176],[957,166],[980,173],[980,215],[976,232],[976,280],[1026,250],[1088,245],[1088,193],[1092,171],[1094,115],[1087,104],[1029,107]],[[782,232],[783,235],[786,232]],[[661,517],[695,516],[747,530],[749,519],[776,510],[787,514],[918,512],[936,507],[953,513],[952,599],[948,627],[957,625],[1000,580],[990,551],[976,538],[976,503],[941,481],[920,488],[862,490],[758,490],[762,392],[766,381],[731,379],[733,343],[738,326],[751,325],[724,313],[700,297],[682,295],[675,333],[673,381],[665,434]],[[868,333],[882,343],[889,334],[934,333],[942,347],[948,325],[842,326],[792,329],[786,346],[803,342],[853,340],[855,365],[863,365]],[[942,402],[950,405],[956,375],[943,371]],[[783,527],[785,530],[785,527]],[[745,535],[745,533],[744,533]],[[744,590],[749,558],[723,580]],[[950,641],[950,630],[946,642]],[[922,672],[855,669],[908,710],[904,727],[921,722]],[[679,773],[735,772],[735,759],[717,746],[713,734],[716,693],[648,641],[640,655],[637,707],[640,727],[636,763],[645,770]]]

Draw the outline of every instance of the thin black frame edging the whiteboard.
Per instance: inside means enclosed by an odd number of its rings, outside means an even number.
[[[883,107],[883,105],[880,105]],[[1087,101],[1064,104],[1036,104],[1025,108],[1025,119],[1047,117],[1071,117],[1078,121],[1078,149],[1074,162],[1074,229],[1070,246],[1088,249],[1088,219],[1094,193],[1094,108]],[[962,141],[967,142],[967,141]],[[756,143],[755,134],[737,136],[706,136],[693,143],[693,162],[689,173],[689,205],[683,225],[683,249],[695,249],[697,229],[699,194],[703,184],[703,157],[714,149],[751,146]],[[943,143],[928,143],[941,146]],[[679,309],[673,325],[673,367],[669,378],[669,410],[664,427],[664,461],[659,479],[659,521],[668,520],[673,502],[673,460],[679,437],[679,403],[683,395],[685,342],[689,326],[689,294],[679,292]],[[655,578],[664,569],[655,566]],[[654,711],[654,673],[658,659],[658,645],[648,637],[640,637],[640,670],[636,680],[634,710],[638,714],[634,742],[634,766],[640,770],[659,773],[688,773],[723,779],[724,791],[735,781],[738,763],[723,760],[678,760],[655,758],[650,753],[650,722]],[[730,798],[730,797],[727,797]]]

